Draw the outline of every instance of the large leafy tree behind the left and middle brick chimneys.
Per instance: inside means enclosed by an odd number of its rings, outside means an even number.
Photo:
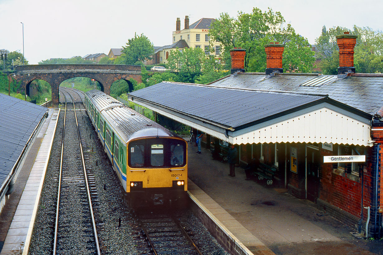
[[[237,19],[228,13],[211,24],[210,34],[213,41],[221,42],[221,58],[230,63],[229,50],[234,47],[246,49],[245,70],[264,72],[266,67],[265,44],[273,41],[285,44],[283,69],[286,71],[309,72],[315,61],[307,39],[295,33],[290,24],[284,26],[285,19],[279,11],[271,8],[262,12],[253,8],[252,13],[238,13]],[[293,51],[296,50],[296,53]],[[230,67],[226,67],[230,68]]]

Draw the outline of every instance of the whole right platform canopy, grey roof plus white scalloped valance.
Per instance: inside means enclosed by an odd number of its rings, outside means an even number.
[[[372,115],[323,94],[162,82],[129,100],[233,144],[370,146]]]

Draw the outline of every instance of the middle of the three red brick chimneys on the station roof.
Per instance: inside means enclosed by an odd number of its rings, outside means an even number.
[[[266,52],[266,76],[271,75],[274,71],[283,73],[282,54],[285,44],[279,42],[270,42],[265,45]]]

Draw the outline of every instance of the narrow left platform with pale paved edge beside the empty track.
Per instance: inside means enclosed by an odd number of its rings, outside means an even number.
[[[49,161],[59,109],[50,109],[49,116],[28,153],[16,181],[15,191],[5,205],[0,237],[4,243],[1,255],[26,254],[32,233],[44,175]],[[5,237],[6,236],[6,237]]]

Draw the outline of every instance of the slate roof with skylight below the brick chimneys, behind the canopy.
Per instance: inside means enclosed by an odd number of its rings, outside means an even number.
[[[371,115],[383,106],[383,77],[314,75],[283,73],[265,78],[264,73],[239,73],[210,84],[228,88],[328,94],[334,100]]]

